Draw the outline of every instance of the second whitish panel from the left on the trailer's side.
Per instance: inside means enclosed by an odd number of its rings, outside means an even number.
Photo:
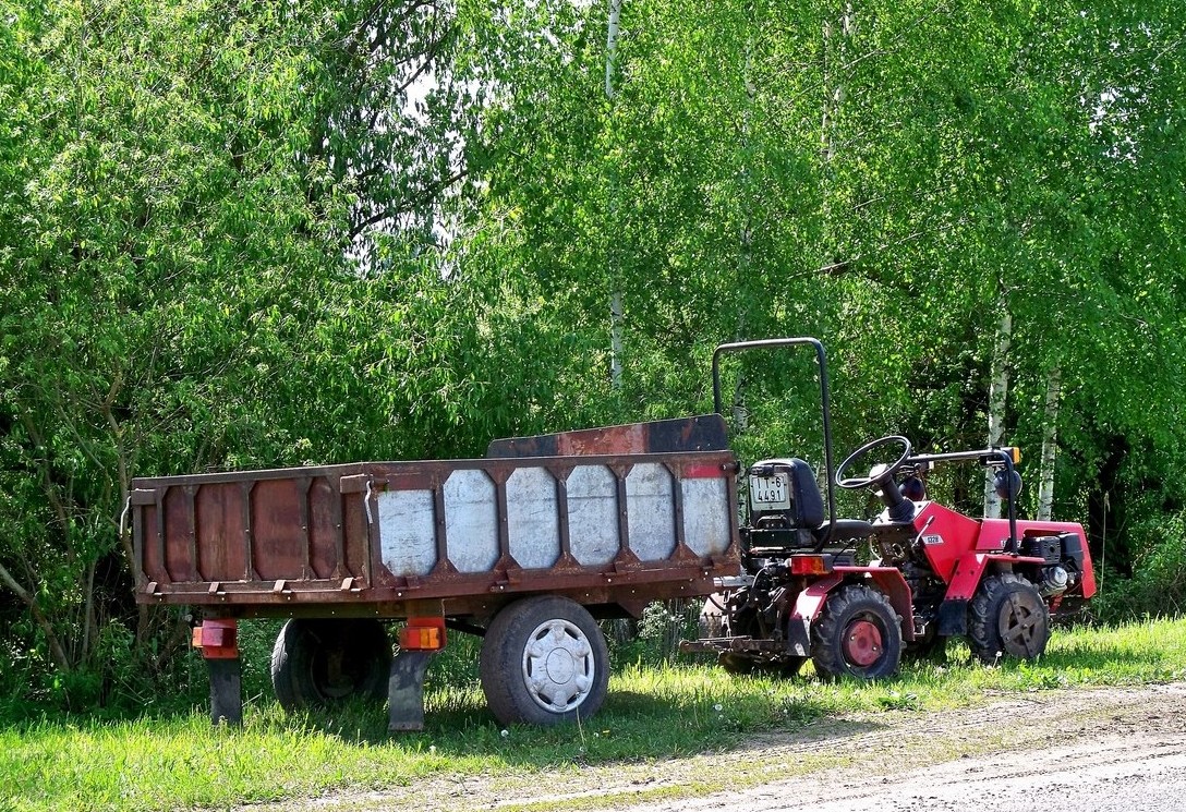
[[[484,471],[454,471],[445,480],[445,537],[459,573],[485,573],[498,563],[498,503]]]

